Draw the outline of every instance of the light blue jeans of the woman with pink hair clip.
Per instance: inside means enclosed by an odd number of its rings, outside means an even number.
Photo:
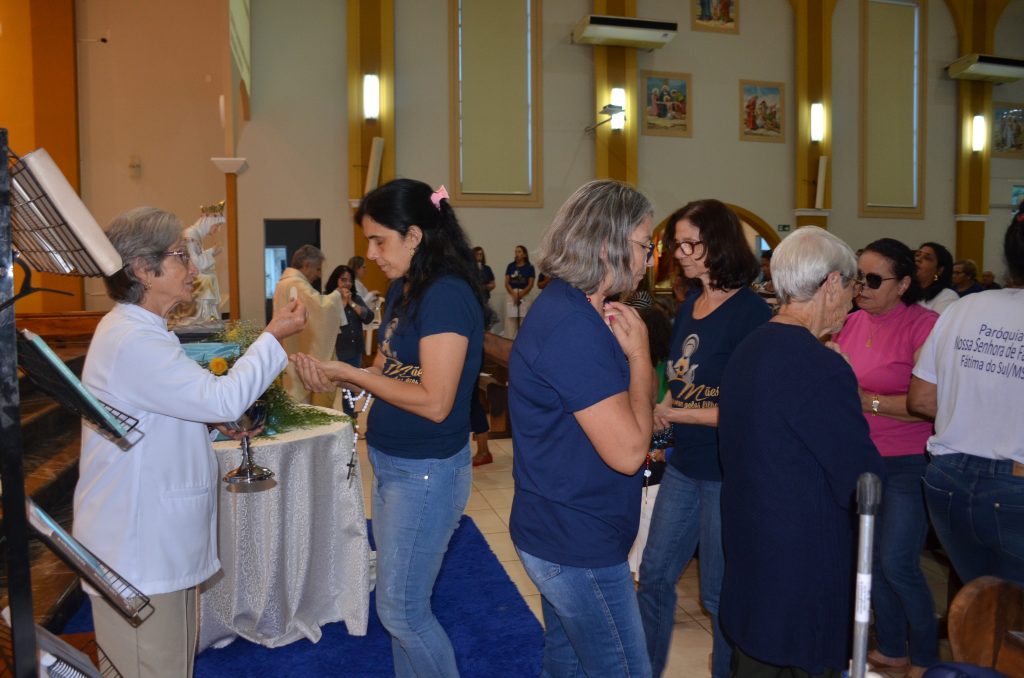
[[[374,467],[377,615],[391,634],[398,678],[458,676],[430,596],[472,482],[469,444],[447,459],[404,459],[369,448]]]

